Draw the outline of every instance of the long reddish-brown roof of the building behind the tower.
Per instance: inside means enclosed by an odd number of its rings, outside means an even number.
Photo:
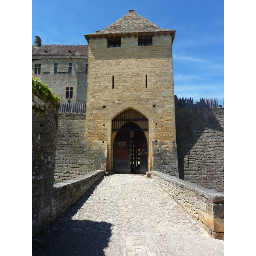
[[[70,51],[70,52],[69,52]],[[32,56],[88,56],[88,45],[45,44],[32,46]]]

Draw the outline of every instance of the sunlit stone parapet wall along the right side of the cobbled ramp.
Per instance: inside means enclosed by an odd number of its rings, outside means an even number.
[[[224,193],[161,172],[151,177],[216,239],[224,240]]]

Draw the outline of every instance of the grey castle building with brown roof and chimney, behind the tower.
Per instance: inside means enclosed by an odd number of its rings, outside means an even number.
[[[32,76],[47,84],[62,102],[86,102],[88,45],[42,45],[35,36]]]

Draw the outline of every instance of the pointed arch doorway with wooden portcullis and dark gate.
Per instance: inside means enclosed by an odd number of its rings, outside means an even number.
[[[148,171],[148,119],[134,109],[112,120],[113,172],[145,174]]]

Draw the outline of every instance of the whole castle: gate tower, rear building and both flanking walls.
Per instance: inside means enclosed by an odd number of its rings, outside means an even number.
[[[41,45],[35,37],[33,76],[62,102],[86,102],[86,113],[59,114],[55,182],[92,169],[157,170],[224,189],[224,111],[177,108],[175,32],[130,10],[84,35],[88,45]]]

